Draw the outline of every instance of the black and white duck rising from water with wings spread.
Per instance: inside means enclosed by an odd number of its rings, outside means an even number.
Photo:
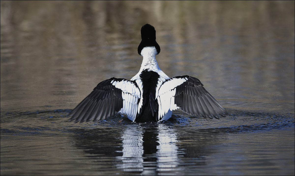
[[[165,121],[181,109],[196,117],[225,117],[227,111],[206,91],[197,78],[183,75],[169,78],[159,67],[160,46],[150,24],[141,27],[137,52],[142,56],[139,72],[130,80],[110,78],[97,84],[66,117],[69,121],[100,121],[125,114],[132,122]]]

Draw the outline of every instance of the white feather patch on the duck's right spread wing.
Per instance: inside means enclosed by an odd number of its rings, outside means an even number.
[[[171,113],[171,111],[178,109],[179,107],[174,103],[174,96],[176,93],[176,87],[186,82],[187,78],[171,78],[164,82],[158,92],[158,103],[159,103],[159,113],[158,120],[161,119],[167,113]],[[170,117],[169,117],[170,118]]]

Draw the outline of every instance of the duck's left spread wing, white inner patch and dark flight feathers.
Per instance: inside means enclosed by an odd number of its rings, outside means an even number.
[[[132,121],[137,116],[140,90],[135,81],[110,78],[99,83],[67,117],[75,123],[98,121],[118,112],[127,114]]]

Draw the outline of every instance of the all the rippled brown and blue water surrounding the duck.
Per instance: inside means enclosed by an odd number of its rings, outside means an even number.
[[[145,23],[229,115],[68,122]],[[1,175],[294,175],[294,38],[294,1],[1,1]]]

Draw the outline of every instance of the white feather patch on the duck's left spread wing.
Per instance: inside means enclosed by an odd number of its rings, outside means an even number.
[[[123,108],[119,113],[127,114],[128,119],[135,121],[138,108],[138,99],[142,97],[136,85],[128,80],[111,81],[112,85],[122,90]],[[142,102],[142,100],[140,101]],[[141,106],[140,106],[141,107]]]

